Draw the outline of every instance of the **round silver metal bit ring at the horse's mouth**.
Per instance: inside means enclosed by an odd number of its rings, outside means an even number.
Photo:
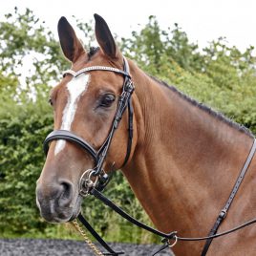
[[[98,180],[98,176],[94,176],[96,173],[93,169],[86,170],[79,181],[79,194],[82,197],[87,197],[90,191],[96,186],[96,182]],[[92,177],[95,177],[95,181],[92,180]]]

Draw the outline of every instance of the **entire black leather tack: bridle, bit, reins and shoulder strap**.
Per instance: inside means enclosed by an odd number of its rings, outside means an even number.
[[[54,130],[52,133],[50,133],[47,138],[44,140],[43,146],[44,146],[44,152],[47,155],[49,151],[49,143],[53,140],[57,139],[65,139],[71,142],[74,142],[76,145],[80,146],[82,149],[84,149],[91,158],[94,160],[96,167],[94,169],[89,169],[86,170],[79,181],[79,194],[81,197],[86,197],[88,195],[93,195],[101,201],[102,203],[106,204],[108,207],[113,209],[114,211],[117,212],[122,218],[126,219],[132,224],[135,224],[139,226],[140,228],[143,228],[155,235],[158,235],[162,238],[161,242],[163,245],[160,246],[160,248],[152,254],[156,255],[159,253],[161,250],[165,249],[166,247],[172,247],[176,245],[178,241],[203,241],[206,240],[206,243],[203,247],[203,252],[202,256],[206,255],[206,252],[214,238],[224,236],[226,234],[229,234],[231,232],[234,232],[236,230],[239,230],[247,225],[250,224],[255,224],[256,223],[256,218],[252,219],[245,224],[241,224],[239,226],[236,226],[232,229],[229,229],[225,232],[222,233],[217,233],[217,230],[219,226],[223,223],[224,218],[226,217],[227,211],[229,209],[229,206],[233,202],[234,197],[237,194],[237,191],[240,187],[241,182],[243,181],[245,177],[245,173],[248,169],[248,166],[251,162],[251,160],[254,157],[255,151],[256,151],[256,139],[253,140],[252,147],[250,149],[250,152],[248,154],[247,159],[245,160],[245,164],[241,170],[241,173],[230,193],[230,196],[227,200],[227,202],[224,205],[223,210],[219,214],[216,223],[214,224],[213,228],[210,230],[208,236],[206,237],[199,237],[199,238],[185,238],[185,237],[180,237],[177,235],[177,231],[173,231],[170,233],[163,233],[160,232],[157,229],[154,229],[146,224],[142,224],[136,219],[134,219],[132,216],[124,212],[121,208],[119,208],[115,203],[110,201],[108,198],[106,198],[100,191],[102,191],[105,186],[109,182],[109,176],[104,172],[102,169],[103,163],[106,159],[111,141],[114,137],[115,131],[117,130],[118,124],[121,120],[121,117],[123,116],[124,111],[128,108],[128,142],[127,142],[127,150],[126,150],[126,156],[123,161],[122,166],[126,164],[126,162],[130,158],[130,153],[131,153],[131,147],[132,147],[132,139],[133,139],[133,106],[132,106],[132,100],[131,96],[135,90],[134,84],[131,79],[131,75],[129,73],[129,65],[127,60],[124,58],[124,65],[123,65],[123,71],[118,70],[116,68],[112,67],[105,67],[105,66],[92,66],[88,68],[84,68],[79,70],[78,72],[74,72],[72,70],[68,70],[64,73],[65,75],[73,75],[74,77],[77,77],[78,75],[88,73],[88,72],[93,72],[93,71],[105,71],[105,72],[114,72],[118,75],[123,75],[124,76],[124,82],[122,86],[122,93],[121,96],[118,99],[117,103],[117,111],[113,120],[112,127],[110,129],[109,135],[107,139],[103,142],[102,146],[99,148],[98,151],[95,150],[95,148],[86,140],[82,139],[81,137],[75,135],[74,133],[66,130]],[[114,163],[115,164],[115,163]],[[114,165],[113,164],[113,165]],[[121,166],[121,167],[122,167]],[[96,232],[96,230],[89,224],[86,219],[82,216],[81,213],[77,216],[79,221],[88,229],[88,231],[96,238],[96,241],[99,242],[100,245],[102,245],[108,252],[103,253],[103,255],[115,255],[118,256],[119,254],[123,254],[123,252],[117,252],[114,249],[112,249]],[[171,244],[171,240],[174,240],[174,243]]]

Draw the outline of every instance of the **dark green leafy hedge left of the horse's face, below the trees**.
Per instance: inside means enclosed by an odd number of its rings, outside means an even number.
[[[0,119],[0,230],[8,224],[8,231],[17,234],[46,226],[37,218],[32,192],[43,164],[41,141],[53,118],[39,104],[29,105],[7,105]]]

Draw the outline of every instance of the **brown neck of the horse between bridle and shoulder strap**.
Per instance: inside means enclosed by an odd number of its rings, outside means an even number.
[[[162,231],[205,235],[252,139],[150,77],[134,79],[139,140],[124,175]]]

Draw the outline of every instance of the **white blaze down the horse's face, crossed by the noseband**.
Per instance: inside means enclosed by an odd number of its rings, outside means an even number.
[[[71,130],[71,125],[75,117],[75,111],[77,108],[77,103],[88,88],[89,84],[89,75],[82,74],[77,77],[74,77],[67,85],[67,90],[69,92],[69,97],[67,101],[67,105],[65,106],[62,114],[62,123],[61,123],[61,130]],[[64,147],[66,141],[63,139],[57,140],[54,155],[56,156]]]

